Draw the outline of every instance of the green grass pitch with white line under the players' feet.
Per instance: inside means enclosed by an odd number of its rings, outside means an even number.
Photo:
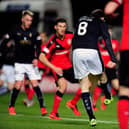
[[[63,101],[61,101],[59,115],[62,120],[51,120],[48,115],[41,116],[36,96],[34,96],[35,105],[29,108],[25,107],[22,103],[22,100],[26,97],[24,93],[21,93],[16,101],[15,110],[17,115],[10,116],[8,114],[9,96],[9,93],[0,96],[0,129],[118,129],[116,117],[117,98],[108,105],[105,111],[99,108],[100,101],[98,101],[99,111],[95,112],[98,123],[96,127],[90,127],[81,100],[78,102],[78,108],[81,111],[80,117],[75,116],[66,107],[66,102],[73,97],[73,94],[65,94]],[[44,98],[47,111],[50,113],[54,94],[46,93]]]

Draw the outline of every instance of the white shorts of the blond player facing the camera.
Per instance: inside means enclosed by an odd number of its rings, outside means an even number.
[[[15,63],[15,80],[23,80],[25,73],[29,80],[41,79],[38,67],[34,67],[33,64]]]

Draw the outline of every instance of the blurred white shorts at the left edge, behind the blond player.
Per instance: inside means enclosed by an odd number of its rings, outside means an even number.
[[[15,70],[14,66],[11,65],[3,65],[2,67],[3,73],[0,75],[0,80],[5,83],[14,83],[15,82]]]

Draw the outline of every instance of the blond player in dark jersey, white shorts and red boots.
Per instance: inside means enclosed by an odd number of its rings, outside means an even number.
[[[23,85],[24,74],[26,73],[34,91],[37,95],[41,115],[47,113],[43,106],[43,97],[39,88],[38,80],[41,79],[37,68],[38,55],[40,53],[41,38],[39,33],[31,27],[33,21],[33,12],[24,10],[22,12],[21,25],[17,25],[5,35],[2,44],[7,43],[10,39],[15,41],[15,88],[12,91],[9,103],[9,114],[16,115],[14,106],[19,94],[20,88]],[[35,53],[35,49],[37,54]]]

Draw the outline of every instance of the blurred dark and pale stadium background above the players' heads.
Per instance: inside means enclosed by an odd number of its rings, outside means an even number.
[[[91,12],[93,9],[104,9],[109,0],[0,0],[0,37],[14,25],[19,23],[21,11],[34,11],[33,25],[39,32],[47,35],[54,32],[53,24],[57,17],[64,17],[68,21],[68,29],[73,31],[77,19]],[[118,8],[119,16],[110,22],[120,33],[122,25],[122,6]]]

